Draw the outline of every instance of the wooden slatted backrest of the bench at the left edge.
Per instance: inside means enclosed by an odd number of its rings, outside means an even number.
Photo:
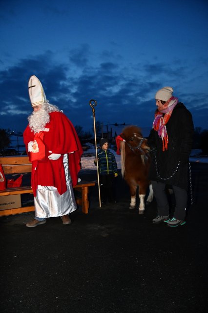
[[[31,173],[32,164],[28,156],[0,157],[4,174]]]

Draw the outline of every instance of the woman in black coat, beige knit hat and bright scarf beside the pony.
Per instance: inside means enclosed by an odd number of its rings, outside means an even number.
[[[172,96],[173,89],[164,87],[155,95],[157,110],[148,138],[152,152],[149,179],[152,181],[158,215],[154,224],[185,224],[188,186],[188,159],[193,138],[192,115],[185,105]],[[169,219],[166,184],[172,185],[176,207]]]

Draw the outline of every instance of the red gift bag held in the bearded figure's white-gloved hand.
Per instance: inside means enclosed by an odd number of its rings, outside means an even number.
[[[36,133],[34,137],[34,144],[30,152],[30,161],[41,161],[45,159],[45,145],[43,142],[43,133]]]

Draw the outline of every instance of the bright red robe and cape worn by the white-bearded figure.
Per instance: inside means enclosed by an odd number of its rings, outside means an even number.
[[[78,181],[78,172],[80,171],[80,158],[83,154],[82,146],[76,130],[70,120],[62,112],[51,112],[50,121],[45,125],[43,142],[45,144],[45,160],[32,162],[31,186],[36,197],[38,185],[56,187],[59,194],[62,195],[66,190],[66,179],[63,167],[63,156],[58,160],[49,160],[48,156],[52,153],[68,153],[69,170],[73,187]],[[34,140],[34,132],[29,125],[26,127],[23,138],[26,146]],[[70,154],[70,152],[73,152]],[[28,152],[30,159],[31,153]]]

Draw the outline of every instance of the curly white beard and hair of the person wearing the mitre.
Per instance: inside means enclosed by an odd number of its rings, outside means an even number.
[[[44,131],[45,125],[50,121],[50,112],[60,112],[60,110],[52,104],[44,103],[39,111],[32,112],[28,116],[29,127],[35,134]]]

